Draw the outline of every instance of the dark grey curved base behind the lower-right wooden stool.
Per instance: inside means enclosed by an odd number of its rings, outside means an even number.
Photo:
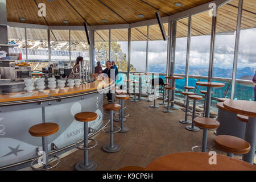
[[[217,129],[216,135],[232,135],[244,139],[246,123],[239,121],[236,113],[231,113],[226,110],[223,106],[223,102],[218,102],[217,107],[220,126]]]

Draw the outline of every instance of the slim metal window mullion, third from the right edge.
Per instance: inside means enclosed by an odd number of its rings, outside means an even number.
[[[192,18],[188,17],[188,39],[187,39],[187,57],[186,57],[186,68],[185,68],[185,86],[188,86],[188,71],[189,71],[189,54],[190,54],[190,46],[191,46],[191,26],[192,26]]]

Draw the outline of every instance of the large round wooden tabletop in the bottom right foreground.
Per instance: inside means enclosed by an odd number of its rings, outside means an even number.
[[[224,155],[216,155],[216,164],[209,161],[214,162],[213,155],[205,152],[180,152],[154,160],[145,171],[256,171],[256,166]]]

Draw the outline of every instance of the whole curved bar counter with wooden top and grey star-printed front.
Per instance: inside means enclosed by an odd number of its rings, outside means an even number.
[[[42,139],[32,137],[28,129],[42,122],[54,122],[60,127],[48,137],[48,151],[71,149],[73,143],[84,137],[84,125],[74,115],[81,111],[98,114],[89,127],[101,129],[103,125],[104,92],[114,87],[113,80],[96,80],[80,87],[44,90],[44,92],[18,92],[0,95],[0,169],[11,164],[35,158],[42,150]],[[56,146],[56,147],[55,147]],[[27,167],[24,164],[22,167]],[[21,168],[21,167],[18,167]]]

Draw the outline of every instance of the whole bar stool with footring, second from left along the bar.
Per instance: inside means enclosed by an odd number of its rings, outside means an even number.
[[[82,142],[83,139],[78,140],[75,143],[75,147],[79,150],[84,150],[84,160],[77,162],[75,165],[75,169],[77,171],[93,171],[97,168],[98,164],[94,160],[88,159],[88,150],[97,146],[98,142],[92,138],[88,139],[88,122],[94,121],[97,119],[98,115],[93,112],[82,112],[77,113],[75,115],[76,121],[84,122],[84,146],[79,146],[79,143]],[[93,141],[95,144],[92,146],[88,146],[88,140]]]

